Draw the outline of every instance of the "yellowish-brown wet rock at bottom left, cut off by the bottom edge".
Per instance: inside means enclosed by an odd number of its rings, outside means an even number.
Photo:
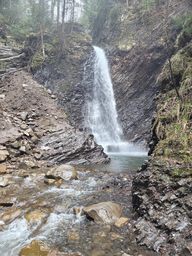
[[[22,248],[19,256],[47,256],[50,252],[50,246],[40,240],[32,240],[27,246]]]

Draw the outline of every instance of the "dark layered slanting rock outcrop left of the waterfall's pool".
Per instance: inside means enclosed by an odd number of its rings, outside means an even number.
[[[50,155],[44,157],[51,163],[95,164],[110,161],[102,146],[94,142],[93,135],[76,128],[52,132],[44,137],[40,146],[53,149]]]

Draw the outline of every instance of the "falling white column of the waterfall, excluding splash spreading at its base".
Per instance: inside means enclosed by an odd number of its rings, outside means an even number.
[[[106,150],[121,142],[122,128],[118,123],[116,102],[104,51],[94,46],[93,65],[93,98],[86,106],[86,124],[98,144]]]

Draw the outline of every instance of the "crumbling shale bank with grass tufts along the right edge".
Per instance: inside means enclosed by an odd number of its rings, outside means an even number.
[[[162,93],[152,124],[152,158],[138,170],[132,186],[140,216],[137,242],[163,255],[192,255],[191,24],[178,36],[171,58],[181,100],[172,89],[167,63],[158,77]]]

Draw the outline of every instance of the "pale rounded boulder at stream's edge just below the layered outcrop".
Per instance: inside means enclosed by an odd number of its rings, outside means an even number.
[[[78,173],[73,166],[62,164],[48,171],[46,177],[55,180],[78,180]]]

